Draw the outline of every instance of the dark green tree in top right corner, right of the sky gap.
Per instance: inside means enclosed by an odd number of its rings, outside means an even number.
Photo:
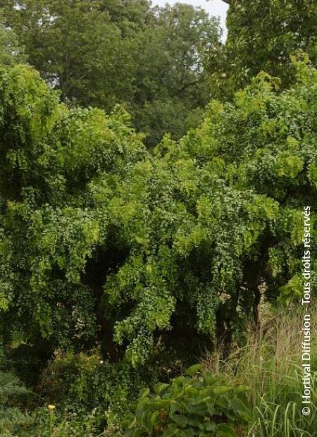
[[[213,95],[232,98],[261,70],[282,87],[295,80],[290,56],[317,61],[317,5],[313,0],[228,0],[225,49],[210,56]],[[216,70],[216,71],[215,71]]]

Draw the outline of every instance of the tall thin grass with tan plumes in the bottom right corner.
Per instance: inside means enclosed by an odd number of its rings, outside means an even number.
[[[249,437],[317,436],[317,313],[311,307],[311,413],[302,414],[303,312],[300,306],[264,312],[258,332],[250,328],[247,343],[221,362],[206,358],[206,367],[250,387],[254,415]]]

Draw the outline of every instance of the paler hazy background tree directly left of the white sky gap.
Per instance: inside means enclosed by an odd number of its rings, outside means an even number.
[[[201,121],[210,99],[205,55],[220,47],[220,30],[205,11],[175,4],[151,10],[143,38],[131,109],[154,146],[164,133],[179,138]]]

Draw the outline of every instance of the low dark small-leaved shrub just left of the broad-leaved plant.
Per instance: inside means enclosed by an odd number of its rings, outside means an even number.
[[[49,362],[40,385],[47,402],[58,405],[57,414],[67,411],[77,419],[92,416],[90,426],[98,430],[105,424],[118,425],[147,378],[149,371],[137,372],[127,362],[113,364],[97,353],[68,352]]]

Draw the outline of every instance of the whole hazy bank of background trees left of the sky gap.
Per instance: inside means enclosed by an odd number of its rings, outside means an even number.
[[[197,125],[209,101],[205,54],[220,47],[218,20],[185,4],[146,0],[5,0],[3,23],[68,104],[107,112],[125,103],[154,146]]]

